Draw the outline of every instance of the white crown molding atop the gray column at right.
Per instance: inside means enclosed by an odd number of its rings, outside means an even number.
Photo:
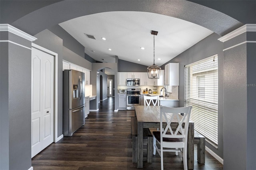
[[[232,38],[239,36],[240,34],[243,34],[245,32],[256,32],[256,24],[245,24],[244,26],[226,34],[225,36],[222,36],[218,40],[221,42],[226,42],[226,41],[231,40]]]

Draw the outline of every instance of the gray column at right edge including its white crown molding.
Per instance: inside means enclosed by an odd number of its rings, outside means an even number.
[[[224,43],[224,169],[253,169],[256,167],[256,24],[246,24],[218,40]]]

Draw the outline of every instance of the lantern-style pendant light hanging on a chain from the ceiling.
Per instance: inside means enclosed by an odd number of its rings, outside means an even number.
[[[157,31],[151,31],[151,34],[154,35],[154,64],[147,67],[148,78],[149,79],[159,79],[161,67],[155,65],[155,36],[158,34]]]

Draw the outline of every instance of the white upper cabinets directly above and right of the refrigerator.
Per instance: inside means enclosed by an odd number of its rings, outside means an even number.
[[[68,63],[67,61],[62,61],[62,70],[77,70],[77,71],[81,71],[84,73],[84,77],[85,77],[85,85],[90,85],[90,70],[80,67],[78,65],[75,65],[73,63]]]

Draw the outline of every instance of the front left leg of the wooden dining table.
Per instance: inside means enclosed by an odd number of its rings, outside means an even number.
[[[143,122],[138,121],[138,165],[137,168],[143,168]]]

